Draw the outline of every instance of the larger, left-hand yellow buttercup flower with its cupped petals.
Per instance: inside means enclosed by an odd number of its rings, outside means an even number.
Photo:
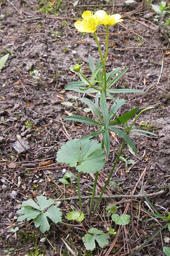
[[[91,11],[85,11],[82,14],[83,20],[77,20],[74,26],[79,32],[94,33],[106,15],[106,12],[102,10],[95,12],[95,14]]]

